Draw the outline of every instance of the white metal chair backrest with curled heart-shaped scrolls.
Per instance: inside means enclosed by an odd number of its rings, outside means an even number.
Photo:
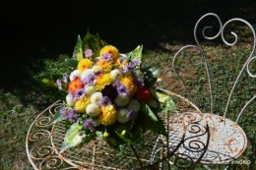
[[[226,28],[226,26],[232,22],[241,22],[243,24],[245,24],[247,27],[249,27],[252,31],[252,34],[253,34],[253,47],[252,47],[252,51],[248,57],[248,59],[246,60],[246,62],[244,63],[242,69],[240,70],[234,84],[232,85],[232,88],[229,92],[229,96],[228,96],[228,99],[227,99],[227,102],[226,102],[226,106],[225,106],[225,110],[224,110],[224,117],[226,116],[226,112],[227,112],[227,109],[228,109],[228,106],[229,106],[229,103],[230,103],[230,99],[231,99],[231,96],[233,94],[233,91],[234,91],[234,87],[237,85],[240,77],[241,77],[241,74],[243,73],[243,71],[246,69],[248,75],[251,77],[251,78],[256,78],[256,75],[253,75],[251,72],[250,72],[250,69],[249,69],[249,65],[251,63],[251,61],[253,61],[254,59],[256,59],[256,56],[253,56],[253,53],[255,51],[255,48],[256,48],[256,35],[255,35],[255,30],[254,28],[248,23],[246,22],[245,20],[242,20],[242,19],[238,19],[238,18],[235,18],[235,19],[231,19],[229,21],[227,21],[224,25],[221,21],[221,19],[219,18],[218,15],[214,14],[214,13],[209,13],[209,14],[206,14],[204,15],[203,17],[201,17],[198,22],[196,23],[196,26],[194,28],[194,37],[195,37],[195,41],[197,43],[197,46],[196,45],[186,45],[184,47],[182,47],[181,49],[178,50],[178,52],[175,54],[175,56],[173,57],[173,60],[172,60],[172,68],[174,70],[174,72],[176,73],[176,75],[178,76],[178,78],[181,80],[182,84],[185,86],[191,100],[193,101],[193,98],[191,97],[191,94],[187,88],[187,86],[185,85],[184,81],[182,80],[182,78],[179,76],[177,70],[176,70],[176,66],[175,66],[175,61],[176,61],[176,58],[179,56],[179,54],[181,53],[181,51],[183,51],[184,49],[186,48],[195,48],[197,50],[199,50],[200,54],[201,54],[201,61],[199,63],[193,63],[191,61],[191,58],[189,59],[190,61],[190,64],[191,65],[199,65],[199,64],[204,64],[205,66],[205,69],[206,69],[206,73],[207,73],[207,78],[208,78],[208,84],[209,84],[209,89],[210,89],[210,98],[211,98],[211,113],[213,113],[213,108],[214,108],[214,103],[213,103],[213,92],[212,92],[212,83],[211,83],[211,78],[210,78],[210,73],[209,73],[209,67],[208,67],[208,63],[207,63],[207,58],[206,58],[206,55],[205,55],[205,52],[203,50],[203,47],[201,46],[199,40],[198,40],[198,37],[197,37],[197,30],[198,30],[198,26],[199,24],[207,17],[209,16],[212,16],[212,17],[215,17],[217,18],[217,20],[219,21],[219,24],[220,24],[220,30],[219,32],[215,35],[215,36],[206,36],[206,33],[205,31],[209,28],[213,28],[211,26],[207,26],[205,28],[203,28],[202,30],[202,35],[204,36],[204,38],[206,39],[209,39],[209,40],[213,40],[213,39],[216,39],[217,37],[219,37],[220,35],[222,36],[222,39],[224,41],[224,44],[228,45],[228,46],[233,46],[234,44],[236,44],[237,40],[238,40],[238,36],[235,32],[231,31],[230,33],[234,36],[234,41],[232,43],[229,43],[225,40],[224,38],[224,28]],[[242,115],[244,109],[252,102],[252,100],[254,100],[256,98],[256,95],[254,95],[249,101],[247,101],[244,105],[244,107],[241,109],[241,112],[238,114],[237,116],[237,119],[235,121],[235,123],[238,122],[240,116]]]

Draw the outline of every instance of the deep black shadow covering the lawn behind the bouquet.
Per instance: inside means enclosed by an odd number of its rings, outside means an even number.
[[[145,50],[165,51],[160,44],[194,43],[193,28],[204,14],[218,14],[223,22],[239,17],[256,23],[254,1],[192,0],[160,2],[42,1],[2,5],[0,86],[21,96],[32,88],[32,79],[44,69],[44,59],[71,55],[78,34],[88,28],[127,52],[138,44]],[[18,89],[18,90],[17,90]],[[38,89],[37,89],[38,90]],[[38,91],[39,92],[39,91]]]

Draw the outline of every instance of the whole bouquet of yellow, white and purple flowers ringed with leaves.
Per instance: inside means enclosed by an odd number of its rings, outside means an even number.
[[[65,61],[70,74],[56,81],[66,94],[52,121],[67,120],[61,152],[96,138],[118,150],[143,145],[148,130],[166,136],[157,113],[176,106],[154,86],[159,68],[142,68],[142,48],[120,54],[89,31],[78,37],[73,58]]]

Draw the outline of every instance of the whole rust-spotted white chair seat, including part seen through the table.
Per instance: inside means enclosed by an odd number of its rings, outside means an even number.
[[[199,117],[198,113],[184,113],[178,117]],[[186,116],[184,116],[186,115]],[[175,116],[176,117],[176,116]],[[173,118],[172,118],[173,119]],[[191,119],[191,118],[190,118]],[[205,113],[203,114],[205,124],[208,124],[210,131],[210,142],[207,147],[206,153],[201,159],[203,164],[225,164],[238,158],[245,150],[247,145],[247,138],[242,129],[234,122],[222,116]],[[187,123],[190,126],[190,123]],[[193,135],[186,132],[187,140],[179,147],[177,153],[187,154],[193,160],[197,160],[201,155],[201,148],[198,152],[195,149],[198,144],[205,143],[207,136]]]

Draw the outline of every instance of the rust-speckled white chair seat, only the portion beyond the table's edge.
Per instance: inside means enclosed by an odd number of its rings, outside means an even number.
[[[245,150],[247,138],[234,122],[219,115],[204,114],[210,129],[208,150],[201,163],[227,163],[238,158]]]

